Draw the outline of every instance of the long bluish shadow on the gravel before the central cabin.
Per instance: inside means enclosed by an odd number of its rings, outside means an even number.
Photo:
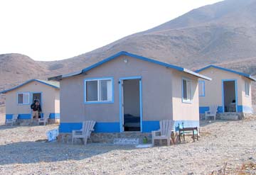
[[[31,164],[37,162],[59,162],[81,160],[105,154],[113,150],[132,150],[134,146],[88,144],[68,145],[57,142],[15,142],[0,145],[0,165]]]

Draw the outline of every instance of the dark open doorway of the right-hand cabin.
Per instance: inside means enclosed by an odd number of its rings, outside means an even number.
[[[223,81],[223,109],[224,112],[237,111],[237,98],[236,98],[236,84],[235,80]]]

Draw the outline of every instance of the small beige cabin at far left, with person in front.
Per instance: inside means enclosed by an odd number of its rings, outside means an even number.
[[[31,122],[31,104],[40,101],[42,117],[52,123],[60,120],[60,84],[58,81],[31,79],[14,88],[1,91],[6,95],[6,119],[18,115],[19,122]]]

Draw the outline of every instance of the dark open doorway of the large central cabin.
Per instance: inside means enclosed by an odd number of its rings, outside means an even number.
[[[122,79],[122,131],[141,131],[141,79]]]

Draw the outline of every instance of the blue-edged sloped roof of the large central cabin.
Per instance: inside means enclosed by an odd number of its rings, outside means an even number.
[[[196,72],[193,72],[191,70],[188,70],[188,69],[185,69],[183,67],[178,67],[178,66],[175,66],[175,65],[172,65],[172,64],[168,64],[166,62],[159,62],[157,60],[152,60],[148,57],[142,57],[142,56],[139,56],[139,55],[135,55],[135,54],[132,54],[132,53],[129,53],[129,52],[125,52],[125,51],[121,51],[121,52],[118,52],[117,54],[115,55],[112,55],[110,57],[107,57],[105,60],[102,60],[100,62],[97,62],[96,64],[92,64],[90,67],[87,67],[85,69],[82,69],[81,71],[79,72],[74,72],[74,73],[70,73],[70,74],[64,74],[64,75],[60,75],[60,76],[57,76],[57,77],[51,77],[49,79],[63,79],[63,78],[67,78],[67,77],[73,77],[73,76],[76,76],[78,74],[83,74],[85,72],[88,72],[90,69],[93,69],[95,67],[98,67],[100,66],[101,64],[104,64],[105,62],[109,62],[110,60],[114,60],[115,58],[121,56],[121,55],[126,55],[126,56],[129,56],[129,57],[134,57],[134,58],[137,58],[139,60],[144,60],[146,62],[152,62],[154,64],[159,64],[163,67],[169,67],[169,68],[172,68],[172,69],[176,69],[180,72],[185,72],[187,74],[192,74],[193,76],[196,76],[196,77],[199,77],[201,79],[206,79],[206,80],[211,80],[209,77],[206,77],[202,74],[198,74]]]

